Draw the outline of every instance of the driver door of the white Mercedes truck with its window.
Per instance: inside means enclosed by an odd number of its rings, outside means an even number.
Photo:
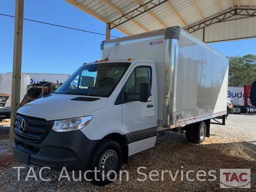
[[[124,101],[122,103],[122,126],[128,132],[130,143],[129,156],[151,148],[156,142],[156,121],[154,112],[154,90],[152,90],[153,64],[137,63],[124,80],[122,92],[137,93],[132,96],[136,101]],[[151,86],[152,100],[140,102],[140,84],[147,83]],[[125,95],[122,94],[123,96]]]

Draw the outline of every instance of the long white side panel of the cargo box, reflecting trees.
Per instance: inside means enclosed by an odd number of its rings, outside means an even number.
[[[181,31],[176,126],[226,114],[228,58]]]

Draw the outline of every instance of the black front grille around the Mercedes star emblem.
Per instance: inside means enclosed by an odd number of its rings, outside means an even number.
[[[24,132],[20,132],[19,125],[21,120],[25,121]],[[36,142],[44,134],[47,126],[47,121],[42,118],[25,116],[22,114],[17,114],[15,119],[14,134],[17,138],[26,141]]]

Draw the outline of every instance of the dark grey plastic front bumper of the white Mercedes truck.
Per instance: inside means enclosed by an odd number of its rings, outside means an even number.
[[[14,134],[13,156],[24,164],[48,166],[54,170],[86,170],[98,140],[88,139],[80,130],[55,132],[50,130],[38,144],[20,140]]]

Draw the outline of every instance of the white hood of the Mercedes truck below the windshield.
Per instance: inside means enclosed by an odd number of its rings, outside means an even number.
[[[82,98],[79,100],[71,100]],[[85,99],[83,99],[85,98]],[[32,102],[29,102],[18,109],[18,113],[27,116],[44,118],[46,120],[58,120],[82,117],[90,112],[106,106],[108,98],[97,97],[98,100],[85,101],[86,98],[96,98],[90,96],[50,94]]]

